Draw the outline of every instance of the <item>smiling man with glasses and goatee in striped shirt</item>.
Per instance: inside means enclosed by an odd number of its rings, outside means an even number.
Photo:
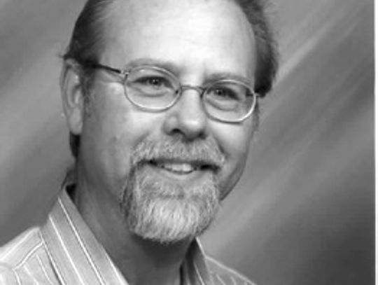
[[[89,0],[61,88],[76,158],[1,284],[251,284],[196,237],[239,180],[276,58],[260,1]]]

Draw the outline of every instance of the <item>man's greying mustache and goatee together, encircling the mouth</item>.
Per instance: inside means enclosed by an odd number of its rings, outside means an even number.
[[[184,186],[173,179],[148,175],[146,165],[154,160],[190,161],[209,169],[201,183]],[[224,161],[224,155],[211,139],[188,142],[169,137],[141,141],[131,154],[131,170],[121,202],[129,229],[135,235],[160,243],[200,235],[218,211],[218,172]]]

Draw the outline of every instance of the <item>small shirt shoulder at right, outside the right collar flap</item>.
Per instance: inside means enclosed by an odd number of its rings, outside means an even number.
[[[207,266],[214,284],[232,284],[232,285],[256,285],[244,275],[236,270],[224,265],[220,261],[206,256]]]

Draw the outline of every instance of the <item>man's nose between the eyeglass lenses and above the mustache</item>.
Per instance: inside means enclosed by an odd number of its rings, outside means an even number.
[[[188,140],[206,136],[207,114],[201,93],[197,88],[183,88],[179,101],[167,110],[164,126],[167,134],[182,134]]]

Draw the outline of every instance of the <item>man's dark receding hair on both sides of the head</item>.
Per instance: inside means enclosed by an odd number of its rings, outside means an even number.
[[[94,80],[94,69],[85,62],[97,62],[98,55],[104,48],[102,36],[107,8],[116,0],[87,0],[81,11],[63,60],[74,60],[80,66],[80,81],[85,99]],[[266,6],[268,0],[232,0],[238,4],[248,22],[250,22],[256,39],[257,68],[255,71],[254,90],[260,97],[272,89],[278,69],[278,53],[272,28],[269,25]],[[70,133],[69,145],[74,158],[78,157],[80,136]]]

